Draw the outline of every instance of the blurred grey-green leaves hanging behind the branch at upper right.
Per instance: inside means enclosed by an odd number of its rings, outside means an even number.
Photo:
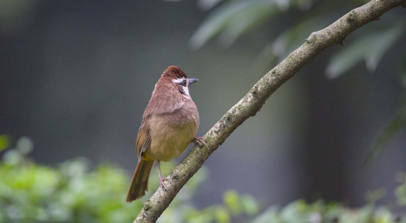
[[[312,32],[323,29],[367,1],[199,0],[203,9],[212,11],[191,37],[190,45],[199,49],[218,36],[220,44],[229,47],[244,34],[263,25],[266,28],[260,33],[269,36],[270,42],[263,47],[256,65],[269,67],[301,46]],[[388,56],[395,58],[394,67],[403,67],[395,72],[406,89],[406,50],[401,51],[401,55],[390,51],[394,46],[405,48],[402,44],[406,36],[405,24],[405,16],[389,11],[385,14],[385,22],[373,22],[362,27],[362,32],[352,33],[351,42],[345,42],[344,48],[327,58],[326,76],[337,78],[351,72],[362,61],[369,71],[374,71],[381,59]],[[280,27],[283,30],[279,30]],[[406,126],[405,108],[401,107],[396,113],[372,144],[366,163],[375,160],[390,139]]]

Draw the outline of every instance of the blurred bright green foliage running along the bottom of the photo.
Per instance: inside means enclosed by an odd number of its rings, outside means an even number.
[[[0,223],[125,223],[138,215],[143,199],[125,202],[130,176],[123,169],[101,165],[89,170],[89,162],[84,158],[68,160],[58,167],[42,166],[26,156],[32,148],[31,140],[23,137],[2,157]],[[169,171],[174,166],[162,167]],[[359,209],[322,200],[297,200],[285,207],[272,206],[261,211],[254,197],[230,190],[224,193],[222,204],[200,210],[191,200],[206,178],[204,168],[201,170],[182,188],[159,223],[406,223],[405,214],[376,207],[375,201],[385,194],[382,189],[368,192],[368,203]],[[156,169],[152,175],[157,175]],[[406,174],[399,173],[398,180],[401,185],[395,195],[402,207],[406,206]],[[159,185],[157,177],[151,177],[150,185]],[[146,197],[150,195],[151,192]]]

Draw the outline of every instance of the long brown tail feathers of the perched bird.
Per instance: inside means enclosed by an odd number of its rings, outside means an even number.
[[[153,161],[141,159],[135,169],[133,179],[131,180],[130,189],[127,194],[127,202],[132,202],[141,198],[148,191],[148,178],[153,166]]]

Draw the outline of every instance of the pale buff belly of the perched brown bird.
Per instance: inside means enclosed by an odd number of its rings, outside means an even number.
[[[151,143],[144,153],[144,159],[173,160],[184,153],[195,138],[198,126],[193,118],[186,117],[181,125],[171,124],[168,120],[166,116],[151,117]]]

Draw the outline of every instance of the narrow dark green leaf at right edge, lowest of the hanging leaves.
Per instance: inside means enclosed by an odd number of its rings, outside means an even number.
[[[399,130],[406,125],[406,106],[400,108],[391,121],[385,126],[382,133],[377,137],[375,143],[372,145],[365,164],[370,165],[371,162],[376,160],[378,155],[382,152],[389,141],[399,132]]]

